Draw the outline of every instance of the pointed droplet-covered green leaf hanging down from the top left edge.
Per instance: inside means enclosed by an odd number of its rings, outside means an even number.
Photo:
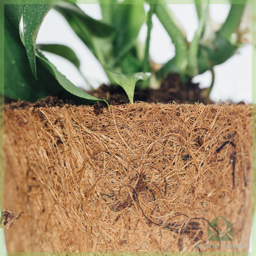
[[[24,0],[23,5],[23,36],[26,52],[32,73],[36,77],[35,42],[41,23],[45,15],[51,9],[52,0],[42,0],[41,4],[29,4],[31,1]]]

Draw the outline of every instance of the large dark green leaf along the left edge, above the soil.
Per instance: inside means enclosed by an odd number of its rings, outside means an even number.
[[[34,102],[49,95],[55,96],[63,88],[41,63],[37,63],[38,80],[33,76],[26,49],[19,36],[22,7],[5,5],[4,94],[12,99]]]

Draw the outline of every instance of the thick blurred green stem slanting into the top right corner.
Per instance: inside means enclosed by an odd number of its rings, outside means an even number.
[[[241,22],[244,7],[245,4],[232,4],[226,21],[218,31],[218,34],[228,41],[230,41],[231,35],[236,31],[239,23]]]

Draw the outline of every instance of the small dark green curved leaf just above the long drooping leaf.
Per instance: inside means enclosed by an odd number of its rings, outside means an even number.
[[[61,44],[37,44],[36,47],[45,52],[51,52],[66,58],[71,63],[73,63],[78,69],[80,68],[80,61],[76,57],[75,52],[65,45]]]

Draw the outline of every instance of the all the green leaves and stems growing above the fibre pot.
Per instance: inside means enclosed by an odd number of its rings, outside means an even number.
[[[120,85],[131,103],[137,81],[145,80],[139,86],[149,86],[151,80],[148,78],[154,72],[150,67],[149,56],[153,14],[163,24],[175,44],[176,52],[175,57],[163,64],[155,74],[160,81],[171,72],[179,73],[183,81],[206,70],[213,72],[214,65],[226,61],[241,46],[239,38],[234,41],[231,35],[239,26],[244,4],[231,5],[227,20],[221,28],[205,38],[205,27],[209,23],[209,2],[201,5],[200,0],[196,0],[199,23],[189,43],[164,0],[99,0],[102,20],[85,14],[75,4],[75,0],[42,0],[40,4],[31,2],[24,0],[23,5],[5,6],[5,96],[13,99],[36,101],[57,95],[84,103],[102,100],[76,87],[43,54],[43,51],[47,51],[66,58],[80,70],[79,58],[72,49],[58,44],[36,44],[40,26],[52,8],[63,15],[102,64],[111,83]],[[145,3],[150,5],[148,13],[145,13]],[[23,27],[20,29],[21,20]],[[144,23],[148,33],[142,56],[138,35]]]

